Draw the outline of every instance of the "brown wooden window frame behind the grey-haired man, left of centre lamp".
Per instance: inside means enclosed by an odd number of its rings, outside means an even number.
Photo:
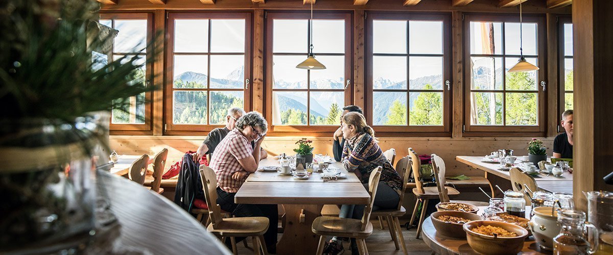
[[[181,19],[232,19],[232,18],[244,18],[245,19],[245,65],[244,68],[244,79],[249,79],[249,84],[253,84],[253,70],[251,66],[253,65],[253,54],[251,48],[253,46],[252,38],[253,38],[253,12],[245,12],[245,11],[237,11],[237,12],[168,12],[166,19],[166,56],[164,57],[164,134],[165,135],[193,135],[194,131],[211,131],[218,127],[224,127],[225,124],[173,124],[173,92],[175,91],[173,84],[173,64],[174,64],[174,32],[175,32],[175,22],[174,20]],[[211,34],[210,28],[211,23],[209,23],[209,32],[208,32],[208,47],[210,49],[210,41]],[[210,73],[210,56],[211,55],[227,55],[228,53],[211,53],[207,51],[206,53],[179,53],[179,55],[206,55],[208,56],[209,64],[207,64],[208,72]],[[233,53],[234,54],[234,53]],[[208,77],[207,73],[207,78]],[[251,111],[253,107],[251,102],[252,97],[252,87],[249,84],[243,83],[243,102],[245,111]],[[207,83],[207,88],[199,88],[199,89],[178,89],[178,91],[204,91],[207,92],[207,121],[210,121],[210,109],[211,109],[211,100],[210,100],[210,92],[212,91],[239,91],[239,89],[211,89],[210,84]]]

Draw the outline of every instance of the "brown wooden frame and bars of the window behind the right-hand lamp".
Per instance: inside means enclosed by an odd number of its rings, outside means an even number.
[[[539,103],[539,107],[538,107],[538,112],[537,112],[537,120],[538,120],[538,125],[535,126],[508,126],[504,123],[503,120],[503,124],[502,125],[473,125],[470,122],[470,118],[471,118],[471,114],[472,114],[472,110],[471,110],[471,91],[472,91],[472,86],[471,83],[472,81],[470,81],[470,76],[471,76],[471,68],[470,68],[470,57],[471,57],[471,52],[470,52],[470,39],[471,39],[471,34],[470,34],[470,22],[471,21],[490,21],[490,22],[501,22],[501,23],[506,23],[506,22],[510,22],[510,23],[519,23],[519,15],[516,15],[515,13],[513,14],[506,14],[506,13],[501,13],[501,14],[497,14],[497,15],[492,15],[492,14],[484,14],[484,13],[466,13],[463,17],[463,34],[464,34],[464,39],[463,39],[463,50],[464,50],[464,54],[463,54],[463,66],[462,68],[464,68],[464,72],[463,72],[463,80],[464,82],[464,130],[463,132],[465,133],[465,135],[468,136],[492,136],[492,135],[512,135],[512,136],[544,136],[545,135],[545,131],[546,131],[546,127],[547,127],[547,92],[543,91],[543,87],[540,85],[541,81],[547,81],[547,39],[546,39],[546,35],[547,35],[547,28],[546,28],[546,17],[543,14],[528,14],[528,15],[523,15],[523,21],[525,23],[536,23],[536,28],[538,29],[537,32],[537,43],[536,43],[536,47],[537,47],[537,54],[536,54],[536,58],[538,59],[538,67],[539,70],[536,71],[536,92],[538,93],[537,96],[537,100]],[[502,31],[503,31],[503,37],[501,39],[501,42],[503,43],[503,48],[501,50],[501,54],[492,54],[492,55],[488,55],[488,56],[495,56],[495,57],[501,57],[503,59],[503,63],[501,63],[501,66],[503,67],[503,84],[506,84],[506,62],[505,62],[505,58],[506,57],[517,57],[517,59],[519,59],[519,55],[516,54],[505,54],[504,52],[504,46],[506,44],[505,42],[505,38],[504,38],[504,24],[502,26]],[[479,55],[479,54],[476,54]],[[524,56],[528,56],[528,57],[533,57],[533,55],[527,55],[524,54]],[[479,91],[485,91],[488,92],[487,90],[479,90]],[[506,114],[506,98],[504,97],[504,94],[506,94],[507,92],[530,92],[530,93],[534,93],[534,91],[507,91],[506,90],[506,86],[503,85],[503,89],[499,90],[499,91],[492,91],[492,92],[501,92],[503,93],[503,119],[504,119],[504,115]]]

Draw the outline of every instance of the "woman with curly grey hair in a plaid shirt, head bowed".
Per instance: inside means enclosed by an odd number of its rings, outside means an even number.
[[[234,203],[234,196],[249,173],[257,171],[260,148],[267,128],[266,120],[257,112],[252,111],[240,117],[235,128],[215,148],[210,168],[215,170],[217,176],[217,204],[222,210],[231,212],[236,217],[264,216],[270,220],[270,226],[264,233],[264,242],[268,252],[274,254],[277,239],[277,205]],[[251,147],[252,141],[255,141],[255,147]],[[243,239],[244,237],[237,237],[236,242]],[[230,238],[226,242],[228,247],[230,247],[229,240]]]

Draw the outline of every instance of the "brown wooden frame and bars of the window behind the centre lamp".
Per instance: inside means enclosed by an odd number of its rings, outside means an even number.
[[[268,133],[332,133],[338,129],[340,125],[310,125],[310,84],[308,84],[307,89],[280,89],[275,91],[307,91],[307,125],[273,125],[272,120],[272,94],[273,94],[273,70],[272,70],[272,59],[273,59],[273,21],[275,19],[280,20],[310,20],[310,12],[303,11],[270,11],[265,13],[265,40],[264,40],[264,81],[265,81],[265,102],[264,102],[264,112],[265,117],[268,121]],[[345,89],[342,91],[345,93],[345,105],[340,106],[341,108],[346,105],[351,105],[353,102],[353,92],[354,92],[354,78],[353,78],[353,69],[354,69],[354,40],[353,40],[353,12],[344,12],[344,11],[316,11],[313,12],[314,20],[345,20],[345,81],[349,79],[351,84],[349,86],[345,86]],[[307,28],[310,28],[310,23]],[[307,42],[305,42],[305,46],[308,47],[310,35],[307,35]],[[314,45],[317,46],[317,45]],[[330,55],[329,53],[319,53],[324,54],[324,56]],[[338,53],[337,53],[338,54]],[[295,55],[281,53],[280,55]],[[332,54],[333,55],[333,54]],[[318,56],[318,53],[315,53],[315,57]],[[306,59],[307,53],[304,54]],[[299,63],[296,63],[299,64]],[[324,63],[325,64],[325,63]],[[317,71],[314,71],[317,72]],[[310,75],[307,73],[307,77]],[[326,91],[341,91],[340,89],[317,89],[313,90],[316,92],[326,92]]]

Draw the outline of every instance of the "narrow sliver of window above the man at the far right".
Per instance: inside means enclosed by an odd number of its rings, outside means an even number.
[[[561,115],[563,111],[568,109],[573,109],[573,23],[569,17],[560,18],[560,38],[562,39],[562,43],[560,43],[560,59],[562,59],[562,63],[560,63],[560,83],[563,86],[560,86],[560,112]]]

